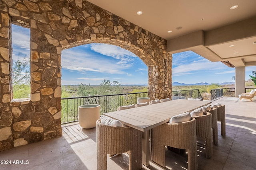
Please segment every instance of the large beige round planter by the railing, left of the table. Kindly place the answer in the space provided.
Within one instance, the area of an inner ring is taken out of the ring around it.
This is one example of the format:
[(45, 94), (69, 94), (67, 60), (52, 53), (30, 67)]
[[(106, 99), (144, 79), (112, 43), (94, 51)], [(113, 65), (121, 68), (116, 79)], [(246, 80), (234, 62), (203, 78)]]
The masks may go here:
[(96, 121), (100, 119), (100, 105), (87, 104), (78, 107), (78, 122), (84, 129), (96, 127)]

